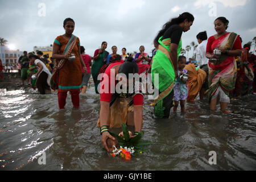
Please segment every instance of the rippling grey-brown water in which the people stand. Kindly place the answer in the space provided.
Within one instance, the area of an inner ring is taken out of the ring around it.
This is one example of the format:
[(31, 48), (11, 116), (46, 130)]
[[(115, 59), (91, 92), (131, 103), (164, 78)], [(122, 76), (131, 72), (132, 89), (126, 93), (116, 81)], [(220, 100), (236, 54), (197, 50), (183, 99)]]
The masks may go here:
[[(34, 90), (0, 90), (0, 170), (255, 170), (255, 96), (232, 101), (231, 114), (210, 112), (207, 100), (187, 104), (187, 113), (156, 119), (151, 101), (143, 106), (148, 151), (130, 162), (110, 156), (96, 127), (100, 97), (88, 90), (73, 109), (65, 110), (57, 94)], [(118, 133), (119, 129), (113, 130)], [(46, 165), (38, 158), (46, 152)], [(209, 152), (217, 165), (210, 166)]]

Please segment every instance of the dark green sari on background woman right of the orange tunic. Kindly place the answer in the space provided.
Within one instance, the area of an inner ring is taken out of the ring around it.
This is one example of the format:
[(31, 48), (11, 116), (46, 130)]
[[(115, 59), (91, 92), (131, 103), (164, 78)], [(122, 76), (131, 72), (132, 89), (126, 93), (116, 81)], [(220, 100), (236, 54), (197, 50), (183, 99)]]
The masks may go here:
[[(98, 51), (99, 51), (99, 49), (97, 49), (94, 52), (94, 56), (98, 55)], [(95, 92), (97, 94), (98, 94), (98, 84), (100, 84), (100, 80), (98, 80), (98, 75), (100, 73), (102, 66), (104, 66), (106, 64), (106, 58), (108, 57), (108, 55), (109, 55), (109, 52), (104, 51), (103, 53), (101, 53), (101, 55), (98, 57), (97, 60), (93, 60), (91, 73), (92, 73), (92, 77), (93, 77)]]

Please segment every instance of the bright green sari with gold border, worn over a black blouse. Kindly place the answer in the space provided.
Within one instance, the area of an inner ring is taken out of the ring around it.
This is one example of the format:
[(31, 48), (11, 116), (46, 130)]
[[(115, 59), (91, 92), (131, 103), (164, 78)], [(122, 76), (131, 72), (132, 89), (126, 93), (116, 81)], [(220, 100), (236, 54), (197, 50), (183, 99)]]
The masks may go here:
[[(172, 107), (173, 89), (175, 82), (174, 64), (170, 57), (171, 39), (159, 38), (159, 49), (153, 58), (151, 76), (159, 96), (155, 98), (155, 116), (158, 118), (169, 117)], [(177, 56), (180, 55), (182, 41), (177, 48)], [(156, 75), (155, 75), (156, 74)], [(158, 77), (155, 77), (158, 76)], [(172, 96), (171, 96), (172, 95)], [(167, 98), (164, 100), (164, 98)], [(168, 102), (168, 103), (167, 103)]]

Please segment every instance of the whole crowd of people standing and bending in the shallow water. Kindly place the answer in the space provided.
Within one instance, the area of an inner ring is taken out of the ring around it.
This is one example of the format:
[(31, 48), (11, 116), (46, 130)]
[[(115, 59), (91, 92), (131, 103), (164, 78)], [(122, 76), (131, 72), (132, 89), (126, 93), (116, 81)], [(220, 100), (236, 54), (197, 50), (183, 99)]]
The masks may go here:
[[(80, 92), (86, 92), (92, 76), (95, 92), (100, 94), (97, 125), (106, 150), (109, 150), (106, 140), (115, 139), (109, 134), (109, 127), (121, 127), (121, 123), (133, 125), (135, 133), (130, 135), (133, 138), (141, 132), (143, 123), (144, 93), (141, 86), (133, 93), (110, 92), (113, 84), (115, 86), (122, 81), (118, 73), (127, 77), (129, 74), (142, 76), (151, 73), (152, 84), (159, 91), (154, 101), (157, 118), (169, 118), (171, 108), (177, 111), (179, 104), (181, 111), (185, 112), (185, 102), (194, 102), (198, 94), (200, 99), (208, 96), (210, 110), (216, 110), (217, 102), (220, 102), (221, 111), (230, 113), (227, 106), (231, 97), (239, 98), (256, 92), (255, 55), (249, 52), (249, 44), (242, 48), (240, 35), (228, 32), (229, 21), (219, 17), (214, 21), (215, 35), (208, 38), (207, 32), (203, 31), (195, 36), (199, 43), (196, 59), (187, 61), (180, 55), (181, 36), (190, 30), (194, 20), (192, 14), (183, 13), (164, 24), (154, 40), (152, 56), (145, 52), (144, 46), (139, 47), (135, 57), (128, 55), (126, 48), (122, 48), (122, 55), (118, 55), (117, 46), (112, 46), (112, 53), (109, 53), (106, 51), (108, 43), (102, 42), (101, 48), (90, 57), (85, 54), (80, 39), (73, 35), (75, 21), (67, 18), (63, 23), (65, 34), (55, 39), (51, 59), (40, 51), (37, 55), (34, 52), (27, 55), (25, 51), (19, 61), (20, 76), (23, 84), (27, 80), (41, 94), (57, 90), (59, 109), (65, 108), (68, 92), (73, 107), (79, 108)], [(111, 70), (115, 75), (111, 75)], [(101, 77), (101, 73), (107, 77)], [(114, 83), (110, 81), (111, 76), (115, 78)], [(104, 89), (106, 85), (109, 86), (108, 92)], [(129, 84), (126, 86), (128, 88)]]

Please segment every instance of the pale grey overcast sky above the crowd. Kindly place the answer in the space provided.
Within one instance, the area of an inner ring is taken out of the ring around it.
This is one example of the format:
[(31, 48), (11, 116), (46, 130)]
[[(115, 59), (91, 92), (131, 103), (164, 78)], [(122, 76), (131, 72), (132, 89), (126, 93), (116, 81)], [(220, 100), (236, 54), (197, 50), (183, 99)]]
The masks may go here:
[[(40, 3), (46, 6), (45, 16)], [(218, 16), (229, 20), (228, 31), (240, 34), (245, 44), (256, 36), (255, 7), (255, 0), (0, 0), (0, 37), (16, 49), (32, 51), (34, 46), (53, 44), (64, 34), (64, 19), (70, 17), (75, 20), (73, 34), (91, 56), (103, 41), (110, 53), (112, 46), (121, 54), (122, 47), (133, 52), (143, 45), (151, 55), (163, 24), (187, 11), (195, 21), (182, 35), (183, 48), (197, 43), (201, 31), (206, 30), (208, 37), (216, 34), (213, 22)]]

